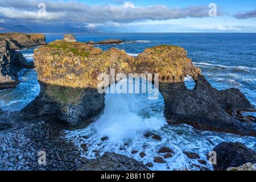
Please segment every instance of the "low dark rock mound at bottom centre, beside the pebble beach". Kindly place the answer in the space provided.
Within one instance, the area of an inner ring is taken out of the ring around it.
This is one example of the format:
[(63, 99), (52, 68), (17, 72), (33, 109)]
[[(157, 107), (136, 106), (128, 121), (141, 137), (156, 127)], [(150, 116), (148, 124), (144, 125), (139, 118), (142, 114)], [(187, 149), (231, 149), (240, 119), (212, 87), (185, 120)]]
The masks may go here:
[(81, 171), (148, 171), (148, 168), (137, 160), (106, 152), (98, 159), (89, 160)]

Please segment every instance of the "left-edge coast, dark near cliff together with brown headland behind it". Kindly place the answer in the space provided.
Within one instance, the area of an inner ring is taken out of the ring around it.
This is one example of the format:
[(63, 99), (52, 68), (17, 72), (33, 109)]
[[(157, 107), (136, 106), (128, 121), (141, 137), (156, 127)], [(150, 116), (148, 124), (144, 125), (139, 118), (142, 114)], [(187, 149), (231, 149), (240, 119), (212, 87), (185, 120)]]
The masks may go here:
[(42, 44), (46, 44), (44, 35), (0, 34), (0, 90), (15, 88), (19, 84), (18, 72), (21, 69), (34, 68), (34, 63), (28, 62), (22, 53), (15, 49)]

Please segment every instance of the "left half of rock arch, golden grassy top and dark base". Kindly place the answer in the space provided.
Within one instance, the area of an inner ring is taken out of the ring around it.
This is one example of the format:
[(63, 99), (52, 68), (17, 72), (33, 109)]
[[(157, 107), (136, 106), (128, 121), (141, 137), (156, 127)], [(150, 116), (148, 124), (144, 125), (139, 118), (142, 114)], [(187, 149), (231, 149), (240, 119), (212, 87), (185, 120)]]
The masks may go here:
[[(52, 115), (71, 126), (96, 117), (104, 109), (98, 75), (133, 72), (133, 57), (112, 48), (102, 51), (84, 43), (55, 41), (35, 50), (41, 93), (34, 104), (40, 115)], [(35, 104), (37, 103), (37, 104)], [(40, 107), (38, 107), (40, 105)]]

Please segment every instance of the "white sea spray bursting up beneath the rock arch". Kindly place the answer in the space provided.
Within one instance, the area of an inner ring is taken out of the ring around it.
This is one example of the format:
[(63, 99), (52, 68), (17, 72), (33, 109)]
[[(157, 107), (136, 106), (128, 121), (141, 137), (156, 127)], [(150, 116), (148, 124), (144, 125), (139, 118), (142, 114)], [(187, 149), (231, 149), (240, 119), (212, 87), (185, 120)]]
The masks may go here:
[[(115, 85), (110, 85), (110, 90)], [(152, 85), (148, 82), (148, 86)], [(147, 94), (106, 94), (104, 114), (93, 124), (94, 129), (113, 142), (142, 137), (148, 130), (159, 130), (166, 124), (163, 113), (154, 113), (150, 107), (152, 102), (146, 97)]]

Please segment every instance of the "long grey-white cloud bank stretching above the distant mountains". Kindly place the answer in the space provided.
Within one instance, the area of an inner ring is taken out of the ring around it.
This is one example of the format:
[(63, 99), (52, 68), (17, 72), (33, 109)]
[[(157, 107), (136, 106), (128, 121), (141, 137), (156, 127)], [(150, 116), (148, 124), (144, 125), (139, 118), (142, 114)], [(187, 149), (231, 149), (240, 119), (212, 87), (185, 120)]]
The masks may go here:
[[(46, 16), (40, 18), (38, 5), (46, 4)], [(163, 5), (135, 6), (131, 2), (122, 5), (93, 5), (81, 2), (42, 0), (1, 0), (0, 17), (19, 23), (106, 23), (134, 22), (138, 20), (167, 20), (208, 16), (207, 6), (189, 6), (170, 9)]]

